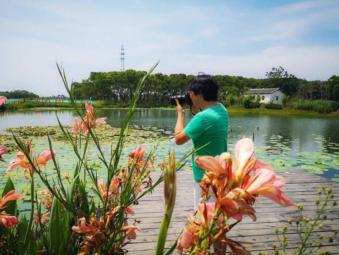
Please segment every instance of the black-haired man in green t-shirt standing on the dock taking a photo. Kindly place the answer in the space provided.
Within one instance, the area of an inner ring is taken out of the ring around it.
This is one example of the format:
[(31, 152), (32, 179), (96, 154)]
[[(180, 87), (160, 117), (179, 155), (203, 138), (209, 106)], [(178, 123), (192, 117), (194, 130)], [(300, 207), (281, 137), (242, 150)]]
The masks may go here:
[[(177, 145), (182, 145), (192, 139), (193, 149), (195, 150), (210, 143), (192, 155), (195, 181), (194, 210), (197, 210), (197, 204), (201, 202), (200, 181), (205, 173), (205, 170), (195, 164), (194, 159), (198, 155), (215, 157), (227, 151), (228, 136), (228, 113), (222, 104), (217, 103), (217, 82), (212, 75), (199, 74), (188, 84), (188, 92), (193, 104), (192, 112), (196, 115), (184, 128), (185, 105), (179, 105), (178, 100), (176, 100), (178, 119), (174, 131)], [(213, 201), (209, 200), (208, 202)], [(214, 244), (215, 252), (220, 250), (221, 247), (221, 242), (216, 242)], [(225, 254), (224, 251), (225, 249), (218, 254)]]

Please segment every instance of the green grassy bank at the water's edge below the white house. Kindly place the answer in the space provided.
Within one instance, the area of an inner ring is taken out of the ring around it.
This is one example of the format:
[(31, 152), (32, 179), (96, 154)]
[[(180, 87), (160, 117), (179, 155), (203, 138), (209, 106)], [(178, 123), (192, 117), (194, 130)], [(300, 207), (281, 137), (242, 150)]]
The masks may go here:
[(273, 115), (302, 115), (302, 116), (316, 116), (316, 117), (337, 117), (339, 118), (339, 113), (318, 113), (314, 111), (304, 111), (304, 110), (294, 110), (294, 109), (265, 109), (265, 108), (255, 108), (255, 109), (245, 109), (245, 108), (227, 108), (229, 113), (255, 113), (255, 114), (273, 114)]

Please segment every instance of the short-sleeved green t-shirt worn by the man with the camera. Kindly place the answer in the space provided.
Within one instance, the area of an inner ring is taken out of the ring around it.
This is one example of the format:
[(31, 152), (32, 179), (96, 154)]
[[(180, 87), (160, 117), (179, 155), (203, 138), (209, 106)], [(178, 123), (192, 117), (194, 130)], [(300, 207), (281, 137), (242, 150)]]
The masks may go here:
[(198, 167), (196, 156), (217, 156), (227, 151), (228, 113), (222, 104), (210, 106), (197, 113), (184, 132), (192, 139), (193, 149), (211, 142), (192, 155), (194, 181), (201, 181), (205, 170)]

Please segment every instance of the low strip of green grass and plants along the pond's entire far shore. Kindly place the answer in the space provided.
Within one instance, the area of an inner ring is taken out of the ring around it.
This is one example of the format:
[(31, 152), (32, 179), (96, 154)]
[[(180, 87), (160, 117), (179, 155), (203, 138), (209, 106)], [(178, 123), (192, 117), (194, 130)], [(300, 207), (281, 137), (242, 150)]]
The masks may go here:
[[(95, 107), (101, 109), (128, 109), (128, 102), (102, 102), (98, 101)], [(299, 109), (267, 109), (264, 106), (261, 108), (244, 108), (242, 105), (228, 106), (223, 104), (229, 113), (249, 113), (249, 114), (272, 114), (272, 115), (301, 115), (301, 116), (316, 116), (316, 117), (335, 117), (339, 118), (339, 113), (333, 111), (330, 113), (318, 113), (310, 110)], [(81, 104), (77, 104), (78, 107), (85, 107)], [(3, 109), (51, 109), (51, 108), (73, 108), (71, 104), (66, 103), (47, 103), (47, 102), (26, 102), (12, 105), (4, 105)], [(145, 103), (138, 102), (137, 109), (156, 109), (156, 110), (175, 110), (175, 107), (169, 104), (160, 103)]]

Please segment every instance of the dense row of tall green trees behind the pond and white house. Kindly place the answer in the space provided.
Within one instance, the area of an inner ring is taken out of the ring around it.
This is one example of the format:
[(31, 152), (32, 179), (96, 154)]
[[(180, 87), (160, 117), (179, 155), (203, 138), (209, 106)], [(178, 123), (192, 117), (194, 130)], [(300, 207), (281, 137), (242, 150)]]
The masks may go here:
[[(74, 82), (74, 96), (77, 99), (103, 101), (128, 101), (145, 71), (91, 72), (88, 79)], [(144, 102), (167, 102), (172, 95), (185, 94), (187, 84), (194, 75), (162, 74), (150, 75), (140, 92)], [(251, 88), (280, 88), (286, 95), (297, 95), (300, 99), (339, 100), (339, 76), (333, 75), (326, 81), (300, 79), (288, 74), (282, 67), (266, 72), (266, 78), (255, 79), (242, 76), (215, 75), (219, 86), (219, 101), (227, 96), (239, 96)]]

